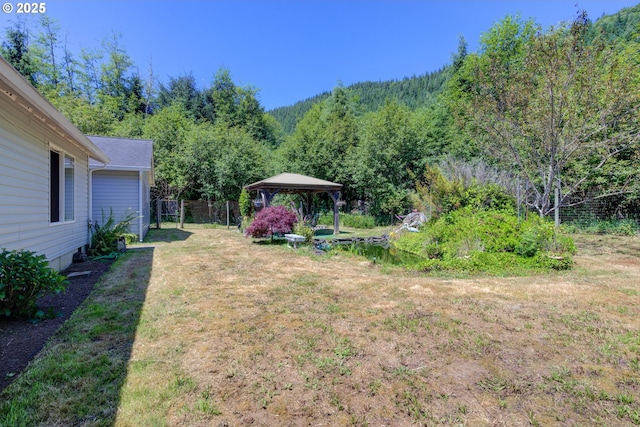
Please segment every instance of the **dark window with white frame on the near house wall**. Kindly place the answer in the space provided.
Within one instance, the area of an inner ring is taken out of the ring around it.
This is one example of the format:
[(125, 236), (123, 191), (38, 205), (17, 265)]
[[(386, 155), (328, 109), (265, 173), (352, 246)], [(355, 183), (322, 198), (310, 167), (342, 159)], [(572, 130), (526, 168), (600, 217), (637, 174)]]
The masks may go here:
[(52, 223), (74, 220), (75, 161), (59, 151), (49, 151), (49, 219)]

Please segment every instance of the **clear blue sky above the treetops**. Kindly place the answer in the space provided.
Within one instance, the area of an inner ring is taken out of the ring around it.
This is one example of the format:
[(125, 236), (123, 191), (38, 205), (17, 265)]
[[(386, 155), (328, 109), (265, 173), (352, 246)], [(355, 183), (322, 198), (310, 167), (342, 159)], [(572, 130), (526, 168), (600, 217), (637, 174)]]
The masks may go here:
[[(5, 0), (3, 0), (4, 2)], [(14, 6), (16, 1), (9, 0)], [(265, 109), (292, 105), (363, 81), (439, 69), (459, 36), (478, 48), (480, 35), (507, 14), (547, 28), (584, 9), (593, 20), (637, 4), (630, 0), (47, 0), (73, 52), (97, 48), (113, 32), (141, 76), (192, 73), (201, 87), (220, 68), (259, 90)], [(1, 27), (16, 20), (0, 14)]]

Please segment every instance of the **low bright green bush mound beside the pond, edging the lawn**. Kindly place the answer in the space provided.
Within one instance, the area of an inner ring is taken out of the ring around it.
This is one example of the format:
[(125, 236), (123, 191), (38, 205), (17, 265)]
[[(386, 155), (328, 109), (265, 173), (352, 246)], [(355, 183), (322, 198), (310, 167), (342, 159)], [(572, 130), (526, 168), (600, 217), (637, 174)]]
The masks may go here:
[(402, 234), (398, 249), (425, 258), (425, 270), (516, 271), (566, 269), (573, 240), (537, 216), (518, 222), (509, 212), (466, 207), (433, 219), (419, 233)]

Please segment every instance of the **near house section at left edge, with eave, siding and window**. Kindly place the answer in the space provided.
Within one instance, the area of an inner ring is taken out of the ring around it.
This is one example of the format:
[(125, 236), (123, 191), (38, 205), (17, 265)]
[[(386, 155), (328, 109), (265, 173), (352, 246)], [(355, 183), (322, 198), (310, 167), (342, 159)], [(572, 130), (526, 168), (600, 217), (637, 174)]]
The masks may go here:
[(0, 249), (63, 270), (89, 243), (89, 158), (109, 157), (0, 57)]

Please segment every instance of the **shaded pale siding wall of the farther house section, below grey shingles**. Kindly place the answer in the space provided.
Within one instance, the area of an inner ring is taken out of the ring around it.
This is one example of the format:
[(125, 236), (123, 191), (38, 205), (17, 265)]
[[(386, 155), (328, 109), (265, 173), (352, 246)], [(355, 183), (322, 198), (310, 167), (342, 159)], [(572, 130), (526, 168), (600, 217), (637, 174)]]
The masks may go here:
[[(113, 210), (116, 221), (130, 212), (139, 213), (138, 172), (117, 170), (96, 170), (93, 172), (92, 221), (102, 225)], [(104, 212), (104, 215), (103, 215)], [(130, 231), (140, 235), (139, 221), (131, 223)]]

